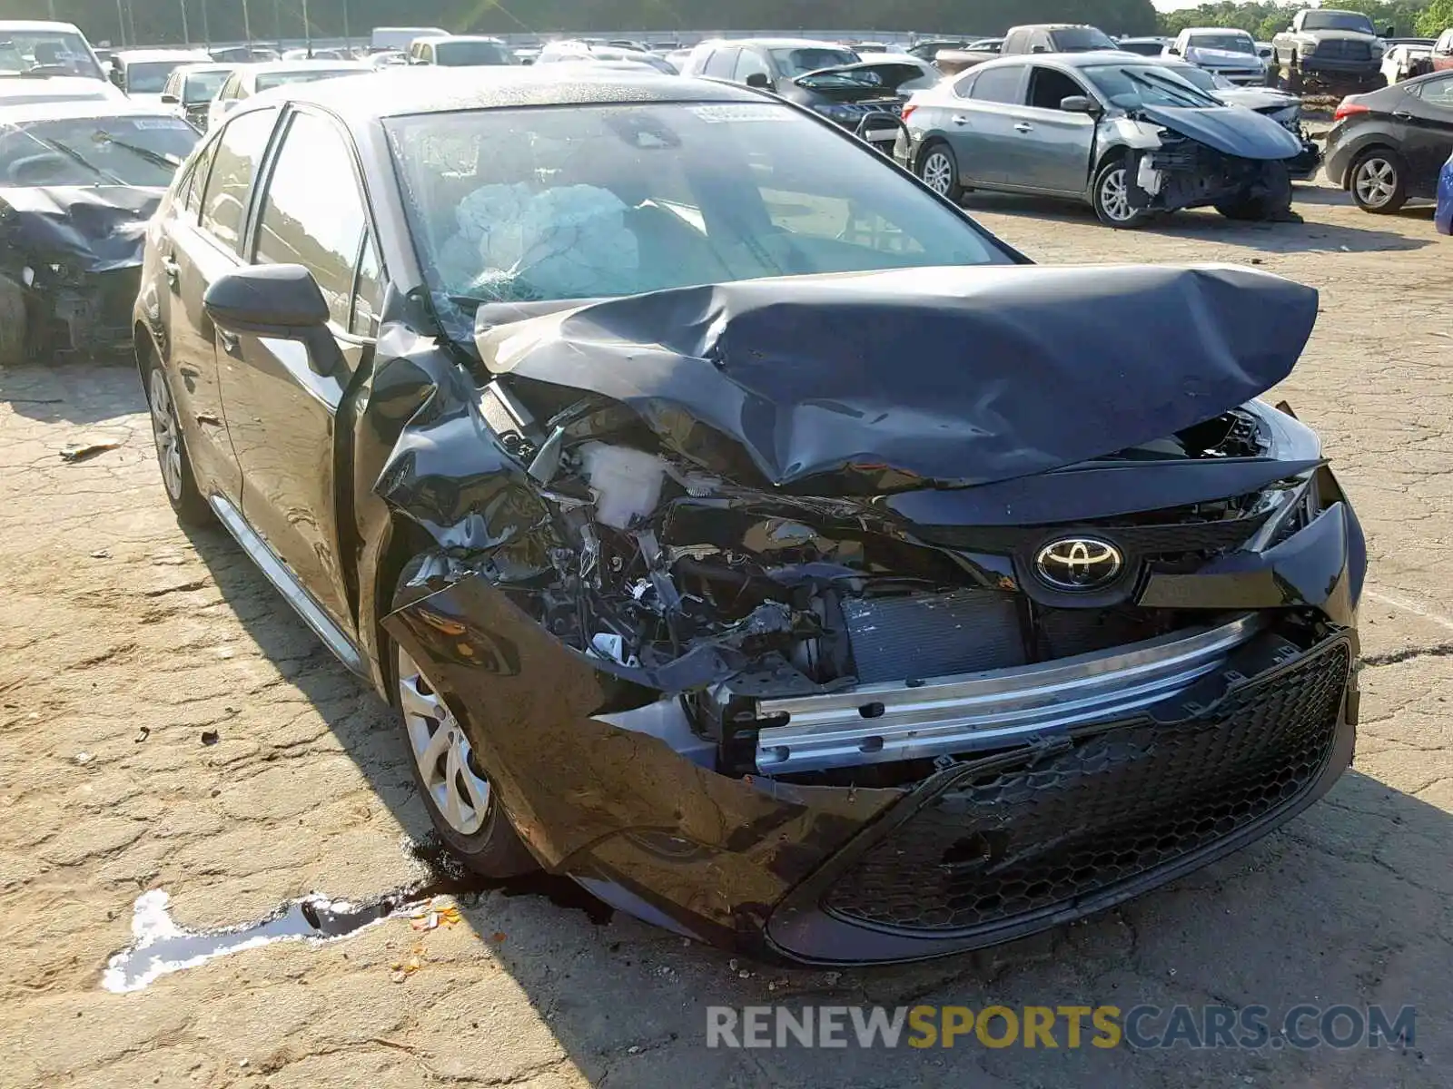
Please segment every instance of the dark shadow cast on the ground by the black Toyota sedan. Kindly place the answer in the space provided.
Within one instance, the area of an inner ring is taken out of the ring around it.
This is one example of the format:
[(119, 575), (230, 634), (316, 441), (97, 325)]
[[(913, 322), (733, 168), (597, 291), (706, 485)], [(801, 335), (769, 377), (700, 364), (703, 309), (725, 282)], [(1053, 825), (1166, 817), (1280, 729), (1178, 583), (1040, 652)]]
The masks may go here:
[[(224, 530), (189, 536), (262, 653), (315, 704), (407, 833), (427, 842), (429, 820), (391, 711), (328, 656)], [(1284, 829), (1088, 922), (947, 960), (881, 968), (753, 963), (622, 913), (591, 912), (588, 897), (556, 894), (574, 889), (567, 878), (445, 887), (458, 894), (465, 922), (493, 963), (530, 1000), (539, 1045), (561, 1048), (590, 1083), (822, 1085), (843, 1080), (843, 1050), (708, 1048), (708, 1008), (1264, 1005), (1273, 1025), (1299, 1002), (1359, 1009), (1382, 1003), (1396, 1013), (1446, 993), (1436, 977), (1453, 941), (1449, 842), (1453, 828), (1441, 809), (1348, 772), (1327, 800)], [(471, 1027), (487, 1041), (488, 1011), (471, 1009), (481, 1019)], [(1450, 1015), (1425, 1005), (1418, 1011), (1420, 1025)], [(1069, 1047), (1067, 1032), (1062, 1024), (1053, 1050), (995, 1050), (972, 1038), (956, 1050), (859, 1050), (850, 1043), (847, 1080), (944, 1088), (1328, 1079), (1411, 1085), (1438, 1069), (1434, 1061), (1453, 1061), (1453, 1043), (1433, 1040), (1350, 1051), (1270, 1043), (1261, 1050), (1135, 1051)], [(481, 1051), (478, 1061), (482, 1069), (491, 1060)], [(1155, 1074), (1151, 1067), (1158, 1067)]]

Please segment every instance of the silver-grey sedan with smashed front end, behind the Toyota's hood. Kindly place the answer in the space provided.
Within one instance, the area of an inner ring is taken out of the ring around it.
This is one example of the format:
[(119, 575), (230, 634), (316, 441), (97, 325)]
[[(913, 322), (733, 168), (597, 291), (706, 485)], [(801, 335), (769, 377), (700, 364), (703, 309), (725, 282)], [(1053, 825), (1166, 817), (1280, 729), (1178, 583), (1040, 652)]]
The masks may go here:
[(1117, 52), (1014, 57), (912, 96), (898, 161), (930, 189), (1067, 196), (1110, 227), (1213, 206), (1292, 215), (1300, 139), (1155, 61)]

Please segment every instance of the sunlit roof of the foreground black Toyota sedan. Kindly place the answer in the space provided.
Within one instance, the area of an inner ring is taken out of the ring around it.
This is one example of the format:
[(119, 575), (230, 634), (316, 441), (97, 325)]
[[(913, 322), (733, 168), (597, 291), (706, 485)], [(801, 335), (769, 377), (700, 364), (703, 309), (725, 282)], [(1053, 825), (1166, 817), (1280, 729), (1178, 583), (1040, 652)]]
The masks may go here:
[(256, 102), (321, 106), (353, 128), (381, 118), (520, 106), (596, 106), (647, 102), (761, 102), (766, 96), (716, 80), (622, 70), (604, 64), (436, 65), (375, 71), (337, 81), (294, 83)]

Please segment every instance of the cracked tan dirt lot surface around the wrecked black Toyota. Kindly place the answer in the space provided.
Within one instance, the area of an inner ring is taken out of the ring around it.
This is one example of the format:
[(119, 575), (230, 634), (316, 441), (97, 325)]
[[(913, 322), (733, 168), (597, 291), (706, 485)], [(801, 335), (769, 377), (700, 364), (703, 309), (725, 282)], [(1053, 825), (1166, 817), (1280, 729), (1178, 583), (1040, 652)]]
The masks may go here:
[[(915, 967), (737, 964), (536, 883), (459, 896), (459, 925), (389, 919), (103, 990), (138, 894), (166, 890), (189, 928), (312, 890), (376, 896), (420, 880), (407, 844), (427, 820), (389, 713), (221, 530), (177, 529), (135, 373), (0, 372), (0, 1085), (1453, 1083), (1453, 242), (1427, 211), (1299, 199), (1302, 225), (1186, 213), (1138, 234), (1059, 205), (971, 208), (1043, 261), (1251, 263), (1322, 290), (1279, 392), (1321, 430), (1369, 531), (1356, 770), (1282, 832), (1120, 910)], [(62, 460), (93, 441), (116, 446)], [(782, 1000), (1411, 1003), (1418, 1035), (1348, 1051), (705, 1047), (706, 1005)]]

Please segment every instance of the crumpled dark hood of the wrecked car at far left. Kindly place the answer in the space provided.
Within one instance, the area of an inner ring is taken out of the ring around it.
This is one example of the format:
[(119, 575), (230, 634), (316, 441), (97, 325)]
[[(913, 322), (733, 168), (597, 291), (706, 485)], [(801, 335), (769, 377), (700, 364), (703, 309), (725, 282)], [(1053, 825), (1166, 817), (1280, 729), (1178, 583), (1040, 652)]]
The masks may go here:
[(147, 221), (164, 192), (132, 186), (0, 189), (0, 261), (44, 256), (83, 273), (138, 267)]

